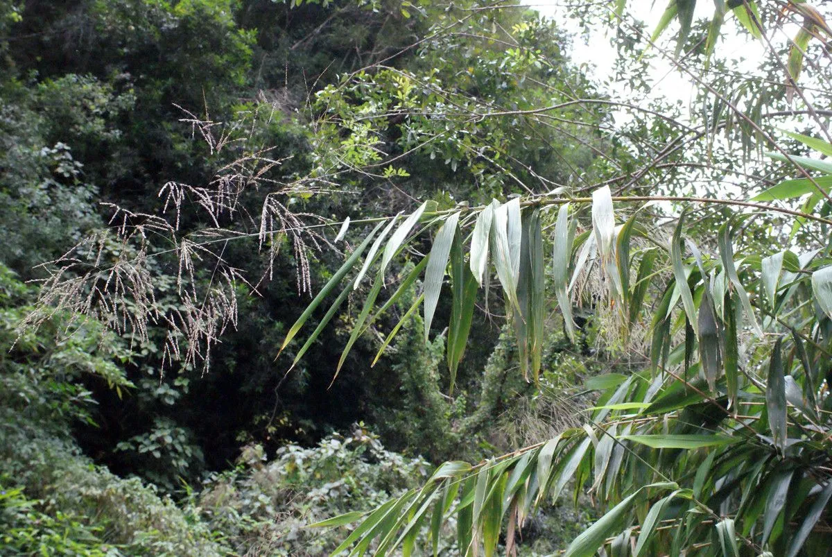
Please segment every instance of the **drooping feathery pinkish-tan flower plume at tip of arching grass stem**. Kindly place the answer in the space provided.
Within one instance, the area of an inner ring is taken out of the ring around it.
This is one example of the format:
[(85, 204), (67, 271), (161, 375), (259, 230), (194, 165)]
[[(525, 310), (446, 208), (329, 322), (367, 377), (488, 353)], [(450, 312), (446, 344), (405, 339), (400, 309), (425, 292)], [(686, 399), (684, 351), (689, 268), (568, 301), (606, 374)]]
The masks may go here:
[[(274, 110), (266, 117), (271, 118)], [(237, 326), (241, 289), (256, 292), (244, 271), (225, 261), (229, 241), (258, 239), (268, 257), (262, 282), (274, 276), (280, 246), (288, 238), (298, 290), (310, 291), (310, 251), (320, 251), (329, 242), (315, 231), (323, 219), (292, 211), (289, 205), (295, 196), (323, 191), (315, 184), (326, 182), (275, 178), (282, 161), (271, 158), (270, 149), (255, 145), (254, 123), (225, 125), (211, 121), (207, 113), (200, 119), (184, 112), (181, 122), (191, 124), (194, 136), (206, 142), (211, 155), (234, 144), (240, 156), (222, 163), (205, 186), (167, 182), (158, 194), (158, 213), (102, 204), (111, 211), (109, 227), (42, 265), (47, 277), (37, 308), (20, 331), (42, 326), (57, 312), (73, 316), (63, 331), (67, 335), (78, 321), (95, 319), (131, 341), (146, 342), (151, 326), (160, 326), (166, 331), (163, 364), (178, 362), (207, 371), (212, 347), (229, 327)], [(259, 115), (247, 117), (256, 121)], [(246, 209), (251, 198), (245, 196), (259, 191), (265, 191), (262, 209), (252, 216)], [(183, 211), (199, 211), (212, 226), (182, 230)]]

